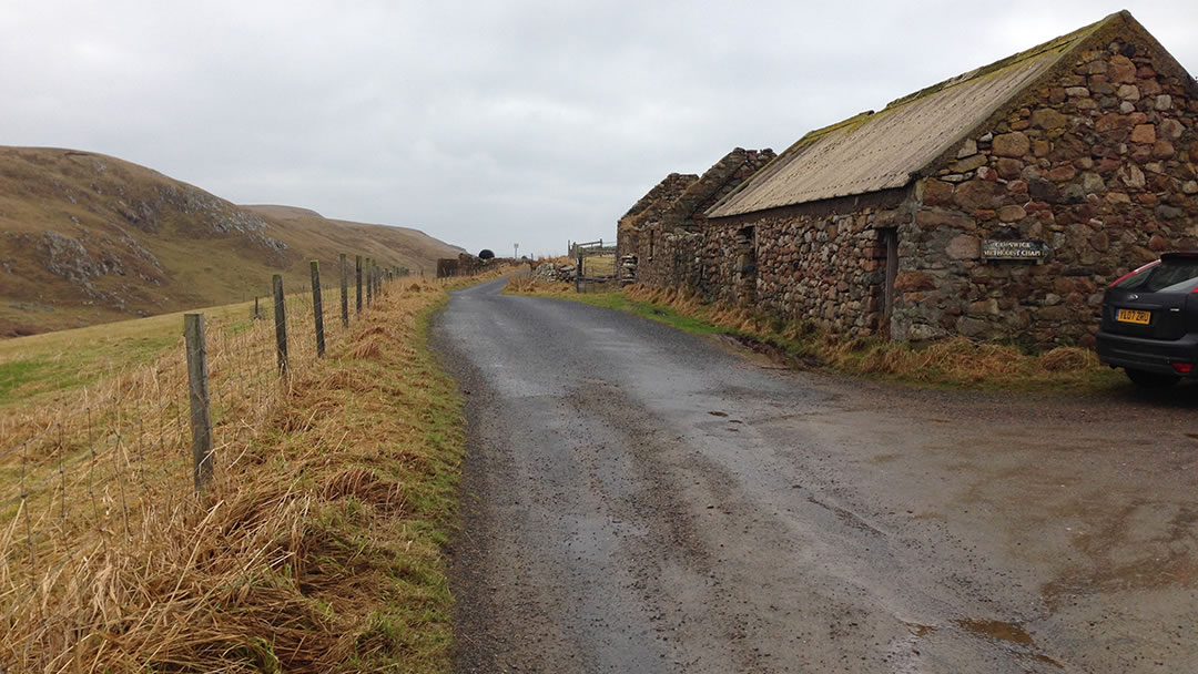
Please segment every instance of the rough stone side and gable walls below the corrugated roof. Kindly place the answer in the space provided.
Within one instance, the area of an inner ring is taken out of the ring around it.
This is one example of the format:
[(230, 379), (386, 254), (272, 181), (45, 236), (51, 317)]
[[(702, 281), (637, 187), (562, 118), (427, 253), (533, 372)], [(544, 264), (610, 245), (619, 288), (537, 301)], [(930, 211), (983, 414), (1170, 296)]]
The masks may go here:
[[(906, 188), (704, 224), (678, 217), (706, 211), (685, 201), (692, 183), (622, 238), (637, 281), (849, 335), (1093, 345), (1114, 279), (1198, 249), (1198, 84), (1138, 31), (1084, 47)], [(1014, 239), (1049, 253), (981, 259), (982, 242)]]

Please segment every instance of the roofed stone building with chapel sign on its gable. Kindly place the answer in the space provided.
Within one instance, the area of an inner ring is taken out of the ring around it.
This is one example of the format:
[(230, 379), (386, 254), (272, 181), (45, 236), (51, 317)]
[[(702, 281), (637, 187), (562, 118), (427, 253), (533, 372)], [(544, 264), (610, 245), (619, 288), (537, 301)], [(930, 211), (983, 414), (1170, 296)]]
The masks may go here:
[(640, 280), (852, 335), (1089, 345), (1111, 281), (1198, 248), (1196, 123), (1198, 84), (1119, 12), (809, 133)]

